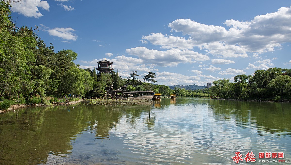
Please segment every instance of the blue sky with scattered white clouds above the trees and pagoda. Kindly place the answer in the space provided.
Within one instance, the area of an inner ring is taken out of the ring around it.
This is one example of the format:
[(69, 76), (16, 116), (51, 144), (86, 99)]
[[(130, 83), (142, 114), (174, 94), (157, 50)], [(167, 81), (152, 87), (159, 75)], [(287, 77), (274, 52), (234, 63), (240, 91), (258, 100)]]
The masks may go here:
[[(159, 85), (207, 85), (255, 70), (291, 67), (290, 1), (22, 0), (17, 26), (55, 51), (78, 53), (80, 68), (104, 58), (122, 78), (157, 74)], [(143, 80), (142, 80), (143, 81)]]

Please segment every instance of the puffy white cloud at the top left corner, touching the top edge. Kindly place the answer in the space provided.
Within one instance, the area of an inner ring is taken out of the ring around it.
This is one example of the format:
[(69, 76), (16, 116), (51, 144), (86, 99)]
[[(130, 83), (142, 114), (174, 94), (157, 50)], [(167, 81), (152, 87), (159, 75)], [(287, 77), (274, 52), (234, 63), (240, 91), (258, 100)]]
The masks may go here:
[(39, 18), (43, 15), (38, 11), (38, 8), (49, 10), (49, 3), (47, 3), (47, 1), (41, 0), (25, 0), (20, 2), (15, 1), (12, 11), (18, 12), (19, 14), (22, 14), (26, 17)]

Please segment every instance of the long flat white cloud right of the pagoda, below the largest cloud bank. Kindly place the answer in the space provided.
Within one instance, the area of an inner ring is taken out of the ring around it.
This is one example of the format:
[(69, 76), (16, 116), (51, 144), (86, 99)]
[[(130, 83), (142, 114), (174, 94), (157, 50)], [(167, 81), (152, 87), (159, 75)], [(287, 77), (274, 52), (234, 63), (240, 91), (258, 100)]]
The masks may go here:
[(148, 63), (156, 64), (158, 66), (177, 66), (179, 63), (196, 62), (210, 60), (207, 55), (203, 55), (190, 50), (170, 49), (166, 51), (158, 51), (154, 49), (148, 49), (145, 47), (136, 47), (126, 49), (126, 52), (130, 55), (136, 55), (142, 60), (146, 60)]

